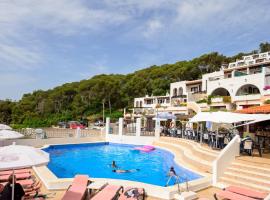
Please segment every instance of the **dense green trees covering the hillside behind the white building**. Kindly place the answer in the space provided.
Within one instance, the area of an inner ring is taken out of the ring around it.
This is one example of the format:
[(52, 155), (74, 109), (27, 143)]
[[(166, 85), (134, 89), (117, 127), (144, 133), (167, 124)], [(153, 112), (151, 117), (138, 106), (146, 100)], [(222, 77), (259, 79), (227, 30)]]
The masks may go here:
[[(165, 95), (171, 82), (194, 80), (243, 55), (265, 51), (270, 51), (269, 43), (261, 43), (257, 51), (233, 57), (213, 52), (189, 61), (154, 65), (127, 75), (101, 74), (47, 91), (37, 90), (24, 94), (18, 102), (0, 101), (0, 123), (13, 124), (14, 127), (44, 127), (87, 117), (95, 120), (102, 116), (103, 104), (106, 116), (118, 118), (123, 108), (132, 107), (134, 97)], [(200, 65), (208, 67), (199, 68)]]

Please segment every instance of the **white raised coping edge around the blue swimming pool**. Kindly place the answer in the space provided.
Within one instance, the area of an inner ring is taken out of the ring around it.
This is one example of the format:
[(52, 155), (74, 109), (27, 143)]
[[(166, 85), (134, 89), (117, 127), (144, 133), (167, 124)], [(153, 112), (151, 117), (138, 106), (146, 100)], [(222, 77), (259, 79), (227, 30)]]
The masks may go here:
[[(79, 144), (91, 144), (91, 143), (110, 143), (106, 141), (95, 141), (95, 142), (85, 142), (85, 143), (67, 143), (67, 144), (47, 144), (43, 145), (40, 149), (49, 148), (50, 146), (54, 145), (79, 145)], [(112, 142), (113, 143), (113, 142)], [(115, 143), (115, 144), (121, 144), (121, 143)], [(134, 144), (136, 145), (136, 144)], [(155, 145), (153, 145), (155, 146)], [(159, 149), (168, 151), (173, 155), (174, 162), (185, 168), (186, 170), (189, 170), (191, 172), (194, 172), (196, 174), (201, 175), (201, 178), (192, 180), (188, 182), (188, 188), (192, 191), (198, 191), (204, 188), (207, 188), (212, 185), (212, 178), (211, 174), (203, 173), (196, 171), (194, 169), (189, 169), (185, 164), (179, 163), (177, 161), (177, 155), (175, 155), (174, 152), (172, 152), (170, 149), (165, 147), (159, 147), (156, 146)], [(48, 190), (66, 190), (69, 185), (72, 183), (73, 178), (58, 178), (46, 165), (39, 166), (39, 167), (33, 167), (35, 173), (38, 175), (38, 177), (42, 180), (42, 182), (45, 184), (46, 188)], [(153, 184), (143, 183), (139, 181), (130, 181), (130, 180), (124, 180), (124, 179), (110, 179), (110, 178), (91, 178), (91, 181), (96, 182), (102, 182), (102, 183), (110, 183), (115, 185), (124, 185), (124, 186), (133, 186), (133, 187), (143, 187), (146, 191), (146, 193), (149, 196), (157, 197), (157, 198), (163, 198), (163, 199), (172, 199), (174, 198), (174, 195), (178, 193), (178, 186), (168, 186), (168, 187), (162, 187), (157, 186)], [(183, 188), (186, 188), (186, 183), (179, 184), (180, 188), (183, 191)]]

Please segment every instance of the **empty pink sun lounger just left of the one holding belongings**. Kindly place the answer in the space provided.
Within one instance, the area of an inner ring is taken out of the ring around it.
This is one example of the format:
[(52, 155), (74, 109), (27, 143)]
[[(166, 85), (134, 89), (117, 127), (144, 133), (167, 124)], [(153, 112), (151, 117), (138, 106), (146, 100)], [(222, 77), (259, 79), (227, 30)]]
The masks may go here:
[(114, 200), (120, 196), (120, 191), (123, 191), (122, 186), (117, 185), (108, 185), (106, 184), (95, 196), (93, 196), (92, 200)]

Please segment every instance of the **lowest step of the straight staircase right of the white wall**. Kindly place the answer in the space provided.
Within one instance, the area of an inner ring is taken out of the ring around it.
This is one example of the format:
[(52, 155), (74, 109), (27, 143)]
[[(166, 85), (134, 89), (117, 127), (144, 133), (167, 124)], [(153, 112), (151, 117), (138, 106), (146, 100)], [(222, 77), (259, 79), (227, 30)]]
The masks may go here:
[(258, 190), (258, 191), (262, 191), (262, 192), (268, 192), (268, 193), (270, 192), (269, 187), (257, 185), (257, 184), (254, 184), (254, 183), (249, 183), (249, 182), (246, 182), (246, 181), (239, 181), (239, 180), (235, 180), (235, 179), (231, 179), (231, 178), (226, 178), (226, 177), (221, 177), (219, 184), (222, 184), (222, 185), (237, 185), (237, 186), (243, 186), (243, 187), (246, 187), (246, 188), (250, 188), (250, 189), (254, 189), (254, 190)]

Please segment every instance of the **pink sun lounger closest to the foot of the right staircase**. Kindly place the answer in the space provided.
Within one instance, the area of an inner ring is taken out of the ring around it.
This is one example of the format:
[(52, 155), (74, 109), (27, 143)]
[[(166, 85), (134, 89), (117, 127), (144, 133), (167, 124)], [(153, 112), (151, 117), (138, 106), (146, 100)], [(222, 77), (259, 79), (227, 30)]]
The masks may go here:
[(225, 188), (226, 191), (241, 194), (255, 199), (264, 199), (268, 195), (267, 193), (252, 190), (249, 188), (239, 187), (239, 186), (229, 186)]

